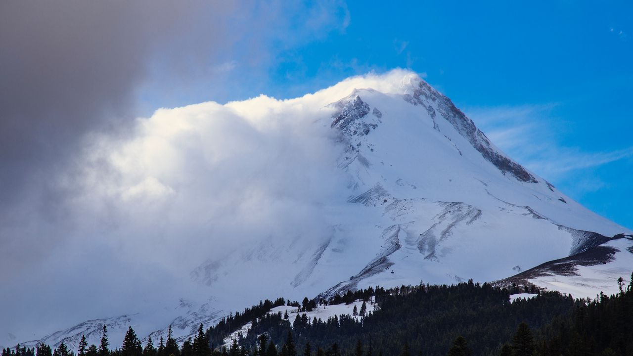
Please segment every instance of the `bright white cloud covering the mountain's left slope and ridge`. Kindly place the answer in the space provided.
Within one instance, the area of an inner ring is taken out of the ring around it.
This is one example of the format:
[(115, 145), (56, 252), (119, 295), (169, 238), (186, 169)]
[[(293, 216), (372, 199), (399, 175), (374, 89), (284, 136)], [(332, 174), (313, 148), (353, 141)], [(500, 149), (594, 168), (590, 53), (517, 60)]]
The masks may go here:
[(13, 306), (0, 310), (0, 342), (207, 298), (214, 291), (189, 273), (237, 246), (322, 243), (331, 234), (323, 209), (344, 204), (349, 184), (328, 105), (356, 87), (399, 90), (404, 72), (386, 75), (398, 80), (370, 74), (299, 99), (162, 108), (125, 135), (91, 132), (56, 179), (70, 192), (56, 205), (63, 219), (3, 226), (32, 241), (63, 238), (26, 250), (1, 241), (3, 263), (20, 268), (1, 269), (0, 285), (23, 293), (0, 296)]

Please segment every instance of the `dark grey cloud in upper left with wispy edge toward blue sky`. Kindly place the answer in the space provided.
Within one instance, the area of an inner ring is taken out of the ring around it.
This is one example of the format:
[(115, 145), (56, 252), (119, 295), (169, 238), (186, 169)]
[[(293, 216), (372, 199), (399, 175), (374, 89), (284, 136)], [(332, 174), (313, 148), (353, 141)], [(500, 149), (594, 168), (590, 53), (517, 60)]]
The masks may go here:
[[(339, 9), (335, 16), (330, 8)], [(0, 258), (0, 281), (73, 230), (66, 202), (77, 194), (72, 172), (82, 168), (92, 134), (126, 136), (143, 110), (229, 99), (225, 92), (237, 86), (265, 83), (275, 53), (345, 26), (340, 8), (327, 1), (3, 1), (0, 250), (9, 257)], [(250, 78), (235, 80), (237, 70)]]

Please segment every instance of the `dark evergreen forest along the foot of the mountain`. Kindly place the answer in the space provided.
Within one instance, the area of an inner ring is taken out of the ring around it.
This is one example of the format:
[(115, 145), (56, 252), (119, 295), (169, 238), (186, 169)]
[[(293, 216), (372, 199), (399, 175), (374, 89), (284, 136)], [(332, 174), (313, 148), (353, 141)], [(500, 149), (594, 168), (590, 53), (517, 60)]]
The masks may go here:
[[(144, 345), (130, 326), (121, 348), (110, 349), (103, 326), (99, 346), (85, 336), (77, 353), (65, 343), (25, 348), (0, 356), (629, 356), (633, 355), (633, 275), (618, 293), (574, 299), (556, 291), (530, 288), (537, 298), (510, 302), (527, 287), (491, 284), (401, 286), (348, 291), (332, 298), (291, 302), (265, 300), (224, 317), (215, 326), (201, 324), (179, 345), (171, 326), (164, 340)], [(317, 307), (362, 301), (351, 315), (325, 320), (309, 317)], [(281, 305), (297, 312), (270, 313)], [(249, 331), (230, 345), (224, 340), (247, 322)]]

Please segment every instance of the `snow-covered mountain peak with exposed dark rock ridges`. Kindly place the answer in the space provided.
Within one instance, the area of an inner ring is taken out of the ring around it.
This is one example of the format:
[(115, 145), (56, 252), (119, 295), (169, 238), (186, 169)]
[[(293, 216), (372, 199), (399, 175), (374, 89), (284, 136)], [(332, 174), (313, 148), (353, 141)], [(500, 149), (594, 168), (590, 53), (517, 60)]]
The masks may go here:
[[(205, 105), (175, 109), (170, 120), (189, 122)], [(415, 73), (354, 77), (302, 98), (260, 97), (224, 107), (263, 121), (296, 114), (315, 130), (329, 130), (324, 144), (338, 150), (333, 164), (344, 177), (334, 188), (336, 198), (315, 203), (319, 216), (305, 222), (310, 229), (285, 238), (261, 236), (199, 261), (183, 278), (208, 295), (174, 301), (163, 319), (145, 322), (149, 311), (122, 310), (125, 316), (87, 321), (39, 340), (64, 340), (75, 348), (86, 334), (98, 343), (95, 331), (106, 324), (118, 345), (127, 325), (157, 340), (172, 324), (182, 341), (200, 322), (211, 324), (263, 298), (300, 300), (420, 281), (532, 283), (595, 296), (615, 291), (616, 279), (633, 270), (632, 231), (506, 156)], [(329, 179), (326, 173), (310, 179)], [(315, 224), (323, 233), (306, 234)]]

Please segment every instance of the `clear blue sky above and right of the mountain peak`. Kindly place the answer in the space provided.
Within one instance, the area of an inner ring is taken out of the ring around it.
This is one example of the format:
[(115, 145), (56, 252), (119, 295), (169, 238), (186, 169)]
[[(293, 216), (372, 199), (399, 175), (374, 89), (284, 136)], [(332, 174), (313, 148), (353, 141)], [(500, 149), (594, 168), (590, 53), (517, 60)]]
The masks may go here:
[[(303, 41), (269, 41), (260, 84), (208, 99), (291, 98), (350, 75), (411, 68), (506, 153), (633, 227), (633, 3), (349, 1), (332, 16)], [(291, 22), (287, 36), (304, 25)], [(226, 78), (239, 82), (241, 64), (228, 61)]]

